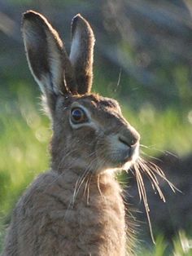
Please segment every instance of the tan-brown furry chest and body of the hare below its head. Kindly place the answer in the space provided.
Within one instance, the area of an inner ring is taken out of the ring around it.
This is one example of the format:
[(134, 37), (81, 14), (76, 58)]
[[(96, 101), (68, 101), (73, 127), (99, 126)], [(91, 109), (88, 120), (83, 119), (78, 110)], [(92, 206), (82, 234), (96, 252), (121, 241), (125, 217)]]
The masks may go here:
[[(83, 186), (72, 205), (75, 184), (69, 188), (66, 175), (42, 174), (18, 203), (14, 218), (18, 236), (25, 241), (18, 248), (19, 255), (124, 255), (124, 204), (119, 184), (103, 174), (100, 188), (93, 179), (89, 195)], [(46, 248), (42, 246), (45, 240)], [(72, 254), (74, 251), (77, 253)]]

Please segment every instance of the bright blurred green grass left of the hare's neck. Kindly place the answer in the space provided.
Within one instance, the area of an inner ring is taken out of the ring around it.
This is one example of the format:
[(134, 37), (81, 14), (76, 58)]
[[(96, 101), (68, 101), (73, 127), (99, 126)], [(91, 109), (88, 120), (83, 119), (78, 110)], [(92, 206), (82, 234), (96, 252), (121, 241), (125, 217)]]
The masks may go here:
[(2, 100), (0, 107), (0, 214), (5, 215), (34, 176), (47, 168), (50, 130), (27, 95), (20, 93), (15, 102)]

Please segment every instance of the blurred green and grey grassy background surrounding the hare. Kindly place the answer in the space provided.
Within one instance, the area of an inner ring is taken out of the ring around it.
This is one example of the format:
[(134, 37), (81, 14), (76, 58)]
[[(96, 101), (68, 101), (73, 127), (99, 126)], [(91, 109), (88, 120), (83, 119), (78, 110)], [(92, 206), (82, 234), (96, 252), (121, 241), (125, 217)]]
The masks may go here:
[[(15, 202), (34, 176), (49, 168), (50, 125), (41, 113), (20, 33), (21, 14), (28, 9), (46, 15), (68, 52), (72, 16), (84, 15), (96, 37), (94, 91), (119, 100), (148, 147), (142, 148), (144, 155), (173, 152), (185, 159), (192, 154), (190, 1), (0, 0), (0, 251)], [(185, 173), (178, 175), (185, 179)], [(191, 176), (186, 177), (192, 187)], [(154, 217), (157, 244), (146, 239), (138, 255), (192, 255), (192, 218), (183, 218), (184, 211), (192, 216), (192, 202), (186, 198), (187, 206), (180, 206), (182, 225), (169, 236)]]

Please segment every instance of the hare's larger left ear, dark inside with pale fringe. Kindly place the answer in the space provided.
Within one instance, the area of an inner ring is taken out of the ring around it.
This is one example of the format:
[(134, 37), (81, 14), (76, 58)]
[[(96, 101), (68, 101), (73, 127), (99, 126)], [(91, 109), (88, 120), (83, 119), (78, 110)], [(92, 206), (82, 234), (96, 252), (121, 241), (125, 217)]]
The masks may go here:
[(76, 91), (72, 65), (63, 42), (46, 18), (35, 11), (24, 13), (22, 31), (29, 68), (46, 96), (48, 107), (55, 108), (59, 94)]

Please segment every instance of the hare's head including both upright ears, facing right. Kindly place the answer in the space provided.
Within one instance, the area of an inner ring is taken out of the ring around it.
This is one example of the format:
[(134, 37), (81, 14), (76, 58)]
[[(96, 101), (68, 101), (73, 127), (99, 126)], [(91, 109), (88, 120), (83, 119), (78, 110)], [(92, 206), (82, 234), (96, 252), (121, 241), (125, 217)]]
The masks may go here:
[(52, 120), (52, 168), (95, 174), (128, 169), (138, 157), (139, 135), (116, 100), (90, 92), (94, 33), (89, 23), (79, 14), (73, 18), (69, 57), (41, 14), (24, 13), (22, 30), (28, 65)]

